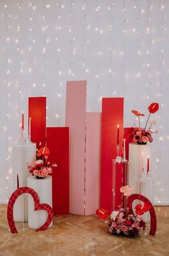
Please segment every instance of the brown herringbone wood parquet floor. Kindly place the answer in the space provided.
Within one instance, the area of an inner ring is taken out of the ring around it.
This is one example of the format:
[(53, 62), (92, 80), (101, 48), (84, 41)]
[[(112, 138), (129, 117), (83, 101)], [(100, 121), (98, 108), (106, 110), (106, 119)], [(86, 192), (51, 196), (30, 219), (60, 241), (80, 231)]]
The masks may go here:
[(156, 236), (137, 238), (112, 236), (97, 216), (55, 216), (53, 226), (35, 232), (17, 223), (18, 234), (11, 234), (6, 205), (0, 205), (0, 256), (163, 256), (169, 255), (169, 206), (155, 207)]

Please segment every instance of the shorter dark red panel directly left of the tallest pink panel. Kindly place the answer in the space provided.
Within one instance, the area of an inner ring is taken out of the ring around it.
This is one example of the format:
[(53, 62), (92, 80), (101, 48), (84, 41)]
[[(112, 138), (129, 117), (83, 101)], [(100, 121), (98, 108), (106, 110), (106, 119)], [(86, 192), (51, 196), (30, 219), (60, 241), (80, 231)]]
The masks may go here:
[(52, 173), (52, 209), (54, 214), (69, 213), (69, 129), (47, 127), (50, 163), (57, 163)]

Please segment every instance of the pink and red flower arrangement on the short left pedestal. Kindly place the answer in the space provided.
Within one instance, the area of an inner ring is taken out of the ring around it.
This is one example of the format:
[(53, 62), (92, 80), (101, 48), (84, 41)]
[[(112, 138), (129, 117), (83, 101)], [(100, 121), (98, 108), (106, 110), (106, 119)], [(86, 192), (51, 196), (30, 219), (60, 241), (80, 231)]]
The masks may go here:
[[(50, 155), (50, 150), (45, 146), (37, 150), (37, 161), (28, 164), (29, 174), (35, 176), (37, 179), (43, 179), (47, 175), (52, 174), (52, 168), (47, 158)], [(57, 164), (52, 164), (52, 167), (57, 167)]]

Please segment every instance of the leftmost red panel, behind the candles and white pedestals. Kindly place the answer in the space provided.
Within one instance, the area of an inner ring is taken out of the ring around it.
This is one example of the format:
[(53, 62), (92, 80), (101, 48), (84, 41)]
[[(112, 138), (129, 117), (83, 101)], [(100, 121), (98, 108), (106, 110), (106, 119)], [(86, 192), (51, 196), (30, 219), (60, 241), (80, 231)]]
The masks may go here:
[(46, 98), (31, 97), (29, 98), (29, 117), (31, 117), (31, 136), (32, 142), (40, 142), (45, 145), (46, 137)]

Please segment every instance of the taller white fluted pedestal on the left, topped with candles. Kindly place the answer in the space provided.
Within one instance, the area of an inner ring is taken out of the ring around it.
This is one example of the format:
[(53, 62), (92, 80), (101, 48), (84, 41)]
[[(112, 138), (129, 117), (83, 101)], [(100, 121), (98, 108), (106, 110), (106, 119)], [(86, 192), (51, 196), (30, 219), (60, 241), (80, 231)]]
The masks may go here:
[[(12, 166), (14, 190), (17, 189), (17, 174), (19, 187), (27, 186), (27, 163), (36, 161), (36, 144), (17, 144), (12, 147)], [(20, 195), (14, 204), (14, 221), (27, 222), (27, 195)]]

